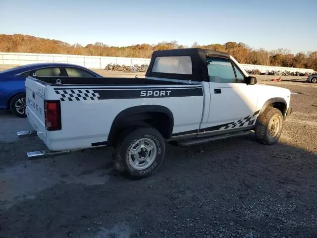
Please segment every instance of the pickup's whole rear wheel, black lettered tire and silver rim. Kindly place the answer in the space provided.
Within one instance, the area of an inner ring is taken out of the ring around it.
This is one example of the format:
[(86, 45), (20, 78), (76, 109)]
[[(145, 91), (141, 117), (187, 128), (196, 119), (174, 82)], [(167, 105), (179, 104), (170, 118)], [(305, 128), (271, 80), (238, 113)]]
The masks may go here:
[[(132, 178), (141, 179), (153, 175), (161, 166), (165, 155), (165, 140), (155, 128), (141, 127), (122, 132), (114, 149), (115, 167)], [(131, 151), (139, 152), (133, 155)]]

